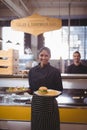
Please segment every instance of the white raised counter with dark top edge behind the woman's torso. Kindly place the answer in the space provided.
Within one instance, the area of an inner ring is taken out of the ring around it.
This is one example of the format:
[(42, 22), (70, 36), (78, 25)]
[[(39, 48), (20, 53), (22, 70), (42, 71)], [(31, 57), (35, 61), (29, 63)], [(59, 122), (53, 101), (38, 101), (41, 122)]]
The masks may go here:
[[(87, 89), (87, 74), (61, 74), (61, 76), (64, 88)], [(0, 87), (29, 87), (27, 77), (27, 74), (0, 75)]]

